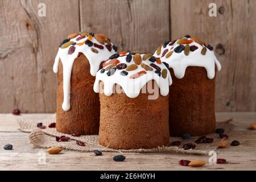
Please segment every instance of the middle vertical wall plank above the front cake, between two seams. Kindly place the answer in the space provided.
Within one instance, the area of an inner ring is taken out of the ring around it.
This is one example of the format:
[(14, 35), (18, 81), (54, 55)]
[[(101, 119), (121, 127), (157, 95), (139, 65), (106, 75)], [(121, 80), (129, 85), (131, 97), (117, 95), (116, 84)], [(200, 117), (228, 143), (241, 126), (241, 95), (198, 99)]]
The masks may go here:
[(169, 39), (169, 1), (80, 1), (81, 30), (106, 34), (119, 51), (151, 51)]

